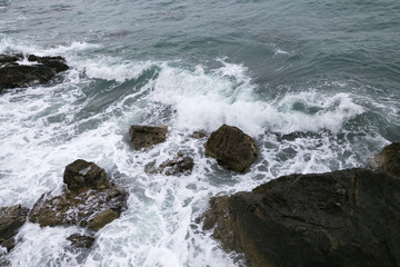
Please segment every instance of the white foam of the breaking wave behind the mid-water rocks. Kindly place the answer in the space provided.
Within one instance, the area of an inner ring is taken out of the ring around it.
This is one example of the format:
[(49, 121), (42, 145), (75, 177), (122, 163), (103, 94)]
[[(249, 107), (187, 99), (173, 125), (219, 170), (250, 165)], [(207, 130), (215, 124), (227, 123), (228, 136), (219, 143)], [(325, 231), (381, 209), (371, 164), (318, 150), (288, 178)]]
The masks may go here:
[(310, 90), (267, 102), (254, 93), (254, 88), (241, 66), (224, 63), (207, 73), (201, 66), (190, 71), (164, 63), (150, 99), (172, 106), (180, 129), (211, 131), (228, 123), (252, 136), (266, 130), (338, 131), (346, 121), (363, 112), (349, 93)]

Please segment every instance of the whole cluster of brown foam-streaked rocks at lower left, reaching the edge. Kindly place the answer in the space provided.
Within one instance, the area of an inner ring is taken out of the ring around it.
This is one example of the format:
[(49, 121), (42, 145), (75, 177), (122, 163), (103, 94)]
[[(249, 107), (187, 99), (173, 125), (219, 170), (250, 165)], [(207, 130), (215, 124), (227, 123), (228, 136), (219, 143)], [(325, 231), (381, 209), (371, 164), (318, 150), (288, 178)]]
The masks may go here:
[[(13, 237), (27, 217), (41, 227), (77, 225), (90, 234), (119, 218), (127, 208), (126, 189), (110, 182), (106, 171), (93, 162), (78, 159), (68, 165), (63, 181), (67, 187), (62, 195), (43, 194), (31, 210), (20, 205), (0, 208), (1, 246), (8, 251), (14, 247)], [(90, 247), (94, 241), (91, 236), (78, 234), (68, 239), (76, 247)]]

